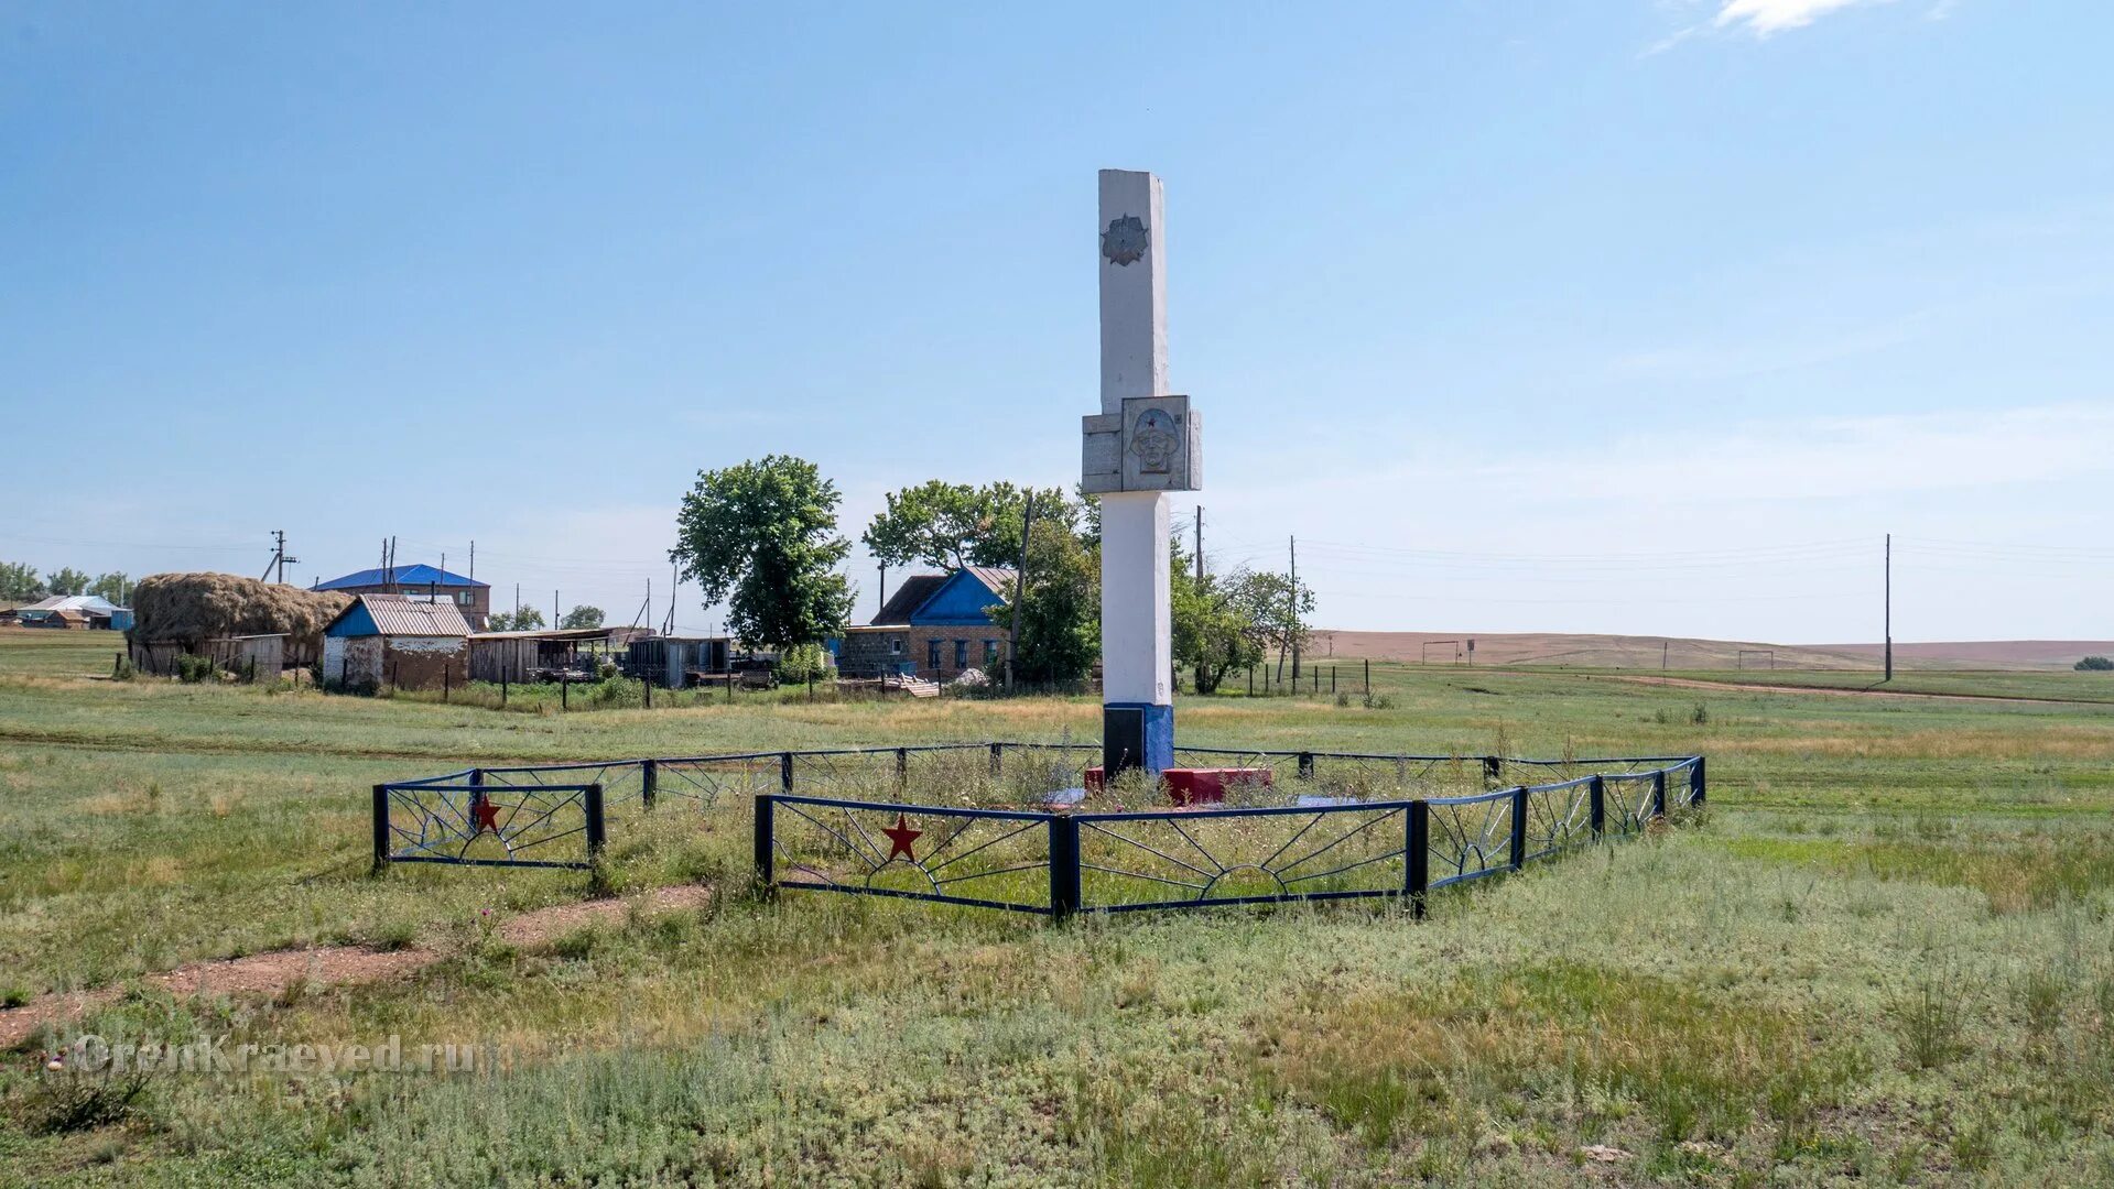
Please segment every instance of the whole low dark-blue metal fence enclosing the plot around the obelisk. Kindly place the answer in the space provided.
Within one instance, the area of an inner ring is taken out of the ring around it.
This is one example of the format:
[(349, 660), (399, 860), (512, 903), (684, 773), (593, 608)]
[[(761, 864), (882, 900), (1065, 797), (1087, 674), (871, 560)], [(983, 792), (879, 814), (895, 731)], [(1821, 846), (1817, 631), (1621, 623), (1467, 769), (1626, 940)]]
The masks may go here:
[[(374, 862), (586, 868), (655, 807), (746, 805), (765, 889), (1044, 917), (1357, 898), (1423, 912), (1440, 887), (1706, 796), (1702, 756), (1177, 748), (1180, 765), (1235, 777), (1226, 803), (1104, 794), (1108, 809), (1082, 798), (1099, 758), (1099, 743), (996, 741), (478, 767), (374, 786)], [(1082, 803), (1057, 805), (1065, 790)]]

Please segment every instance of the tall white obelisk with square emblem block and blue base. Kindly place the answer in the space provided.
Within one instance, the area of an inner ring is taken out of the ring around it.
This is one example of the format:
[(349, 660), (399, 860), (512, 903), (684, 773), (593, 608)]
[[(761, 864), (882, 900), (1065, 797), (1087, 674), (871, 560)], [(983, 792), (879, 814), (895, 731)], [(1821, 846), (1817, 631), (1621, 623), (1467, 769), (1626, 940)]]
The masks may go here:
[(1167, 391), (1161, 180), (1101, 171), (1101, 412), (1084, 418), (1082, 490), (1101, 496), (1101, 767), (1173, 765), (1167, 492), (1203, 479), (1201, 418)]

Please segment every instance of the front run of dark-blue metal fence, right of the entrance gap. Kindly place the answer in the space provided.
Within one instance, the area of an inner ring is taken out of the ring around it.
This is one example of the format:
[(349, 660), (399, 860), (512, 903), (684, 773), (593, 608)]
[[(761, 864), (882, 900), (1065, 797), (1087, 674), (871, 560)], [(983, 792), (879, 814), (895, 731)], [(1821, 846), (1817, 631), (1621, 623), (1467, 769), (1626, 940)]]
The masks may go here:
[[(1287, 754), (1304, 756), (1440, 760)], [(1435, 889), (1638, 834), (1704, 803), (1702, 756), (1621, 762), (1659, 767), (1465, 796), (1294, 792), (1294, 805), (1125, 811), (761, 794), (757, 881), (1046, 917), (1361, 898), (1408, 898), (1421, 914)]]

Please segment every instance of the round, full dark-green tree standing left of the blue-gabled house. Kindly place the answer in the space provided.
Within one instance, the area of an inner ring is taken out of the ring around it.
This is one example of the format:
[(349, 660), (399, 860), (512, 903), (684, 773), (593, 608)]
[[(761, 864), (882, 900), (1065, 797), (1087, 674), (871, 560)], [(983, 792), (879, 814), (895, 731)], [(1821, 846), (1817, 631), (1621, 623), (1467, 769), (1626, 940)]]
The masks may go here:
[(700, 471), (668, 558), (708, 606), (727, 602), (734, 636), (765, 648), (814, 644), (852, 615), (852, 587), (837, 572), (852, 543), (837, 532), (837, 484), (805, 458)]

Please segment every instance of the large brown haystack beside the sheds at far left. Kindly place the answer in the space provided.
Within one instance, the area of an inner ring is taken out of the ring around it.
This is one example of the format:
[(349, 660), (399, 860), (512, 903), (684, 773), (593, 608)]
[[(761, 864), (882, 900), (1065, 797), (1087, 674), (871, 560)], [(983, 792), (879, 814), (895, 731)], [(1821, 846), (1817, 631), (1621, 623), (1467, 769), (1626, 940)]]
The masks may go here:
[(148, 574), (133, 591), (133, 644), (201, 650), (224, 636), (285, 634), (290, 655), (321, 655), (323, 627), (351, 596), (304, 591), (239, 574)]

